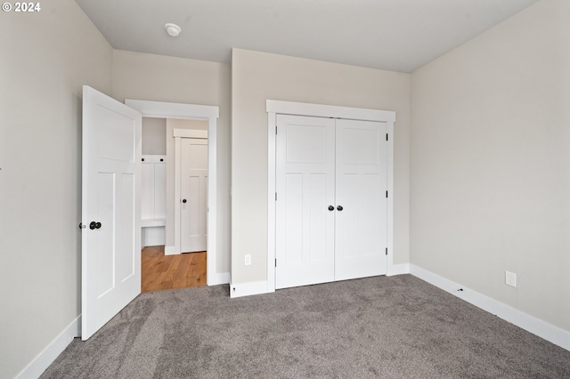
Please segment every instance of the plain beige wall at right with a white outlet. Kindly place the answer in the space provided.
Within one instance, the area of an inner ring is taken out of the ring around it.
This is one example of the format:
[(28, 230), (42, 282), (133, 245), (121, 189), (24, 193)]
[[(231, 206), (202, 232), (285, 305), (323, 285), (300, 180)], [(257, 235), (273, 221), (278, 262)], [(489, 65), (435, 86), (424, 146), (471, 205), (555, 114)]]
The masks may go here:
[(567, 331), (569, 104), (566, 0), (411, 77), (411, 263)]

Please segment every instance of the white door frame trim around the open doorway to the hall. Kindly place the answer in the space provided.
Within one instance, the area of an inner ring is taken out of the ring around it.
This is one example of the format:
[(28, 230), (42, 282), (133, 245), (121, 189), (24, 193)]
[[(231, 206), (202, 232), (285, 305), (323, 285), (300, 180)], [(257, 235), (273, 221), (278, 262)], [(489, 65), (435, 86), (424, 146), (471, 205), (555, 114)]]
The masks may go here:
[[(217, 152), (216, 133), (219, 107), (211, 105), (182, 104), (177, 102), (141, 101), (126, 99), (125, 104), (142, 113), (142, 117), (181, 118), (208, 121), (208, 238), (206, 254), (207, 284), (216, 286), (227, 283), (225, 274), (216, 273), (216, 220), (217, 220)], [(174, 136), (173, 136), (174, 137)], [(166, 253), (166, 252), (165, 252)]]

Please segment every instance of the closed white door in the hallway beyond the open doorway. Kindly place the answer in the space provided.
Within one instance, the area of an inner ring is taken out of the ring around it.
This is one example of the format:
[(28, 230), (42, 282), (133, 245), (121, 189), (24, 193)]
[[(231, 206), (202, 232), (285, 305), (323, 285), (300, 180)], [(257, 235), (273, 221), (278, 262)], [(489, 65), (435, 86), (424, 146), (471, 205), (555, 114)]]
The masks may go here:
[(206, 251), (208, 140), (182, 139), (181, 175), (181, 251)]

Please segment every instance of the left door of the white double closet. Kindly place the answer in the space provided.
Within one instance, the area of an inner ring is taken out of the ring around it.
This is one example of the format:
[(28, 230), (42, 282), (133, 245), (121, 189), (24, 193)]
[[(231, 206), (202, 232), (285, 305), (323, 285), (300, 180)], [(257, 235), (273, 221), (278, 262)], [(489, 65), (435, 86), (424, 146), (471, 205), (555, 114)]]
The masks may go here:
[(334, 280), (334, 125), (277, 117), (276, 288)]

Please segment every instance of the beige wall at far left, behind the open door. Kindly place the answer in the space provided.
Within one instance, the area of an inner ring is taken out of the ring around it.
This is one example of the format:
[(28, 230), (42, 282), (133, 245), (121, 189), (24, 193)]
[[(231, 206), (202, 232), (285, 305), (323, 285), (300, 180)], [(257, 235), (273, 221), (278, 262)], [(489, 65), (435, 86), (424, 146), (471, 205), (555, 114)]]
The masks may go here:
[(0, 377), (10, 378), (81, 311), (81, 86), (110, 94), (112, 49), (73, 1), (0, 18)]

